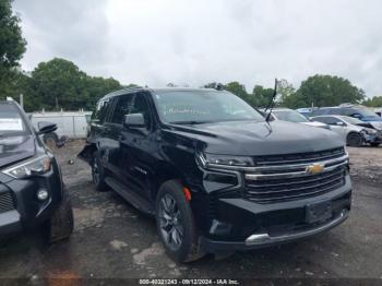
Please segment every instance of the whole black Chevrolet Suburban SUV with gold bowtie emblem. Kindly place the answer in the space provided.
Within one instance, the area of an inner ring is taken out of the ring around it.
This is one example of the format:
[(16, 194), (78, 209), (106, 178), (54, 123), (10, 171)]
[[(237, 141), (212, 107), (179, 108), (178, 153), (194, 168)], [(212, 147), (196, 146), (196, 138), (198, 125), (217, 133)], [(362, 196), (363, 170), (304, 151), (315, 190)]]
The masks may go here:
[(267, 122), (226, 91), (131, 88), (103, 97), (80, 157), (98, 191), (155, 215), (186, 262), (309, 237), (349, 213), (348, 155), (334, 132)]

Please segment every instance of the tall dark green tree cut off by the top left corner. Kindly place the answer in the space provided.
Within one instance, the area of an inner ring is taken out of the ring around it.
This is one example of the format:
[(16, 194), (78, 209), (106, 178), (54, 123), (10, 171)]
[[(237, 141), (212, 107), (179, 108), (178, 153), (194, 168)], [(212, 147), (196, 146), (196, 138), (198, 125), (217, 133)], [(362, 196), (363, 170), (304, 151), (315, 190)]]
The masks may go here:
[(16, 96), (22, 76), (19, 61), (25, 52), (20, 19), (12, 12), (12, 0), (0, 1), (0, 98)]

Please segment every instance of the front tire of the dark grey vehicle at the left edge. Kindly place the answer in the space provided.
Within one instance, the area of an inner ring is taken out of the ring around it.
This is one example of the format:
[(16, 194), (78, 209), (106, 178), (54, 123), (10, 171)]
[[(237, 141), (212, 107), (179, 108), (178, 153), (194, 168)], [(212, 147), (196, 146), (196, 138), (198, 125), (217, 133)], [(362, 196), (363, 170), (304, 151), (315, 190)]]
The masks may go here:
[(73, 210), (69, 193), (63, 187), (62, 201), (48, 221), (48, 241), (53, 243), (70, 237), (73, 233)]

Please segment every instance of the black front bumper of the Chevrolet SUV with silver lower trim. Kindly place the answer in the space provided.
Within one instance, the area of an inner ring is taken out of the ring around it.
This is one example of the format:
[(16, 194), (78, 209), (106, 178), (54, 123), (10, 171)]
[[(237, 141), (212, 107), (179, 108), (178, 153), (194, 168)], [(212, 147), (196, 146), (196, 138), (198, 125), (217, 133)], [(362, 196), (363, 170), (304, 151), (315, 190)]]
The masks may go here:
[[(330, 201), (332, 216), (307, 223), (307, 205)], [(202, 242), (208, 252), (250, 250), (286, 243), (326, 231), (348, 217), (351, 183), (332, 192), (303, 200), (258, 204), (244, 199), (219, 199), (210, 229)]]

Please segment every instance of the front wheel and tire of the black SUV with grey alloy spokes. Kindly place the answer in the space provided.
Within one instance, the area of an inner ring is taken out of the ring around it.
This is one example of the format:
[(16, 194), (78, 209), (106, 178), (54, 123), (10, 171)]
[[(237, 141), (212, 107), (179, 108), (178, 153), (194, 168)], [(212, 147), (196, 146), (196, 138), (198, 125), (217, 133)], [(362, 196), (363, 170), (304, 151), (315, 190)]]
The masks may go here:
[(201, 237), (179, 181), (162, 184), (155, 207), (157, 231), (167, 255), (180, 263), (202, 258), (205, 252), (201, 248)]

